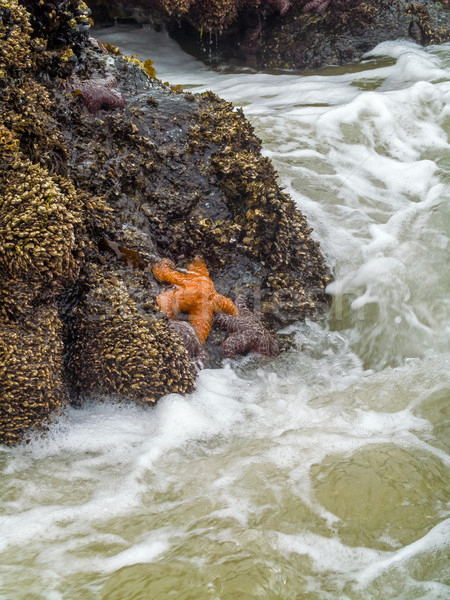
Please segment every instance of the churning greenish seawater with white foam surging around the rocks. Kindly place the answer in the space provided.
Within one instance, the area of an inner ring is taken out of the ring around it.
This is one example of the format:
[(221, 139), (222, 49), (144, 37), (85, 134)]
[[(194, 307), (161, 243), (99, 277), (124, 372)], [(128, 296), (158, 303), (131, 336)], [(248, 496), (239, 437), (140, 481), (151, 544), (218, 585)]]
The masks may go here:
[(316, 74), (101, 39), (243, 106), (334, 273), (327, 322), (154, 409), (0, 450), (0, 598), (450, 597), (450, 45)]

